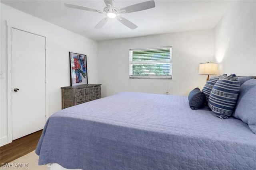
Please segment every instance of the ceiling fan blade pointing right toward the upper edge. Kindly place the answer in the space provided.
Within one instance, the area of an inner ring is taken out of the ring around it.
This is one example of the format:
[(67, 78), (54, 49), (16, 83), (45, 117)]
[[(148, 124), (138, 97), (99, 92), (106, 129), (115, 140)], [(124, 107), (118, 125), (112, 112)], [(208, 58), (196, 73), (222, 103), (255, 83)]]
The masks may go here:
[(122, 8), (122, 9), (120, 9), (120, 13), (130, 13), (130, 12), (142, 11), (142, 10), (154, 8), (155, 6), (156, 6), (155, 1), (150, 0), (150, 1), (142, 2), (139, 4), (134, 4), (134, 5)]

